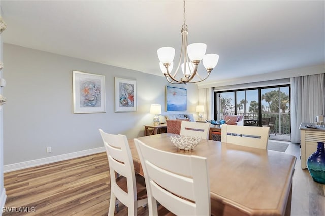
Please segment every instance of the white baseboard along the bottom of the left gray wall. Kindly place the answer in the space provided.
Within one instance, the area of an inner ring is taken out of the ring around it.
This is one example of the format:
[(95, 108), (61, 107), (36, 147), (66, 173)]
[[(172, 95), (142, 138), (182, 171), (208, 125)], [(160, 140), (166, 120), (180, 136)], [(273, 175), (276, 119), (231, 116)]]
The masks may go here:
[(53, 162), (58, 162), (58, 161), (63, 161), (63, 160), (68, 160), (72, 158), (78, 158), (86, 155), (92, 155), (100, 152), (105, 152), (105, 147), (99, 147), (95, 149), (88, 149), (88, 150), (83, 150), (79, 152), (72, 152), (68, 154), (63, 154), (63, 155), (56, 155), (52, 157), (47, 157), (47, 158), (41, 158), (37, 160), (31, 160), (31, 161), (25, 161), (25, 162), (20, 162), (20, 163), (15, 163), (15, 164), (8, 164), (4, 165), (4, 173), (6, 172), (11, 172), (11, 171), (16, 171), (20, 169), (25, 169), (29, 167), (34, 167), (34, 166), (39, 166), (43, 164), (49, 164)]

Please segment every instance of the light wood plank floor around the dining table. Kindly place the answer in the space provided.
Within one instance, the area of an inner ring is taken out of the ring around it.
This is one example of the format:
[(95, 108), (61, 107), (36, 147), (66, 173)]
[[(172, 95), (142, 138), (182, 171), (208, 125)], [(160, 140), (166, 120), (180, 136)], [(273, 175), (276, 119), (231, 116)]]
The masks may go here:
[[(325, 215), (325, 185), (300, 168), (300, 147), (290, 144), (286, 153), (297, 157), (291, 215)], [(5, 207), (35, 207), (34, 213), (3, 215), (107, 215), (110, 181), (106, 153), (56, 162), (4, 174)], [(126, 215), (120, 206), (117, 215)], [(140, 207), (138, 215), (148, 215)]]

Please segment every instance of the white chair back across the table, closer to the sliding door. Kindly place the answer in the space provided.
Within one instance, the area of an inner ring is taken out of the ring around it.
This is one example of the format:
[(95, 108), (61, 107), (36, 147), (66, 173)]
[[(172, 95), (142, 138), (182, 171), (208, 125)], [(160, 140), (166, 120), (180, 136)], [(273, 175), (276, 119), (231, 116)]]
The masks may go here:
[(221, 142), (267, 149), (269, 131), (269, 127), (223, 124), (221, 127)]

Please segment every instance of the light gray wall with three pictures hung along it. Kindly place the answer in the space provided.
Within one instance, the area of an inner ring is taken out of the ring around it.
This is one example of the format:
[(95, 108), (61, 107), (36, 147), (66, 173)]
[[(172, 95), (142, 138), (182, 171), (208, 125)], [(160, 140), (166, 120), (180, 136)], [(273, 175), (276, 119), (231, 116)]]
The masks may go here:
[[(99, 128), (128, 138), (143, 136), (143, 125), (153, 119), (152, 103), (167, 114), (165, 88), (173, 85), (164, 77), (11, 44), (4, 44), (4, 62), (5, 165), (102, 147)], [(106, 76), (106, 113), (72, 113), (72, 70)], [(114, 77), (137, 80), (138, 112), (114, 112)], [(174, 86), (187, 89), (187, 112), (177, 113), (196, 114), (197, 85)], [(46, 153), (49, 146), (52, 153)]]

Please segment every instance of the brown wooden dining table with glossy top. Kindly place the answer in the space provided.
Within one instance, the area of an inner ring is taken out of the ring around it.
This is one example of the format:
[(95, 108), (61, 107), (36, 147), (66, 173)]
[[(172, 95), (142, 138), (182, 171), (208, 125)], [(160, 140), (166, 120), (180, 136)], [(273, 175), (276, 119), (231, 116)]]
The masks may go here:
[[(295, 156), (207, 139), (193, 150), (180, 150), (171, 136), (176, 134), (137, 139), (159, 150), (207, 158), (211, 215), (290, 215)], [(133, 139), (129, 146), (135, 171), (144, 176)]]

